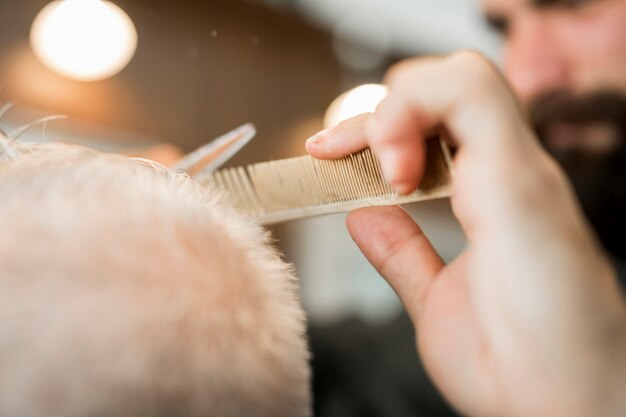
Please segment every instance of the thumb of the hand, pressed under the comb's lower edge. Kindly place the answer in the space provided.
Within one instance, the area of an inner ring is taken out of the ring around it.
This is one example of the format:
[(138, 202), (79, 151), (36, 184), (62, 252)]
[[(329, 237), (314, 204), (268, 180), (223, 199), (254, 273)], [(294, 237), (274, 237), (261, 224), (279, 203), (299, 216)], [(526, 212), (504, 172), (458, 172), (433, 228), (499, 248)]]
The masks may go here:
[(399, 207), (368, 207), (348, 216), (352, 239), (396, 291), (413, 321), (444, 263)]

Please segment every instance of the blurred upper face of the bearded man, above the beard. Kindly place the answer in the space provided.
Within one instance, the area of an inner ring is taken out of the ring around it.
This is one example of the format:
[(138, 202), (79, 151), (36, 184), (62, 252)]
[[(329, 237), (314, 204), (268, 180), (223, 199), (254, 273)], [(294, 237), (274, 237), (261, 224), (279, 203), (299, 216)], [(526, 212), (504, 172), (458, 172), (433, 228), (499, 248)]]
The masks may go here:
[(626, 93), (626, 0), (482, 0), (525, 102), (555, 90)]

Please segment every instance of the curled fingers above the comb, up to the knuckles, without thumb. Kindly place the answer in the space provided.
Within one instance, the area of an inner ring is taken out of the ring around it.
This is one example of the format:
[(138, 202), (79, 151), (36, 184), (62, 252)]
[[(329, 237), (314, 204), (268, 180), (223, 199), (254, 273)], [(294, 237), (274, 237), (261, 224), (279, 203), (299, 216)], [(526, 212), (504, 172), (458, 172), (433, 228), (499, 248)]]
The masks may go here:
[(396, 191), (407, 193), (423, 172), (423, 139), (441, 126), (463, 154), (488, 165), (505, 160), (503, 153), (521, 157), (515, 156), (524, 154), (520, 147), (533, 142), (513, 93), (478, 53), (404, 61), (390, 71), (387, 83), (390, 93), (364, 131), (363, 120), (351, 128), (339, 126), (307, 150), (315, 157), (339, 158), (368, 145)]

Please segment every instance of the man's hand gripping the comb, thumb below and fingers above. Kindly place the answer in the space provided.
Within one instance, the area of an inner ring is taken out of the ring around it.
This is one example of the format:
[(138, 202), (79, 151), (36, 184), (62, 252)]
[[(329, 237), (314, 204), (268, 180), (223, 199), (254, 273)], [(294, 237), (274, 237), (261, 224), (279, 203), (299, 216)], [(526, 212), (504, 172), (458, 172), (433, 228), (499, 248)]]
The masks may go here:
[(423, 138), (445, 126), (455, 215), (470, 242), (444, 265), (397, 207), (351, 213), (364, 254), (402, 299), (433, 380), (470, 416), (626, 415), (626, 308), (560, 169), (483, 57), (394, 68), (376, 113), (307, 142), (317, 158), (370, 146), (400, 193), (424, 168)]

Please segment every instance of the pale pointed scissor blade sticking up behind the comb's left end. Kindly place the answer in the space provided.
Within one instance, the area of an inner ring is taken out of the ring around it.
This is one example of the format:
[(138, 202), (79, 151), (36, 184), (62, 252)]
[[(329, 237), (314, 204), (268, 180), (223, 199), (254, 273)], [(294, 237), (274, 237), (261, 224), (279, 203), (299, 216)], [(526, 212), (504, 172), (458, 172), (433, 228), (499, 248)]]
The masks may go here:
[(210, 174), (224, 165), (255, 135), (254, 125), (246, 123), (183, 156), (171, 170), (184, 171), (191, 177)]

